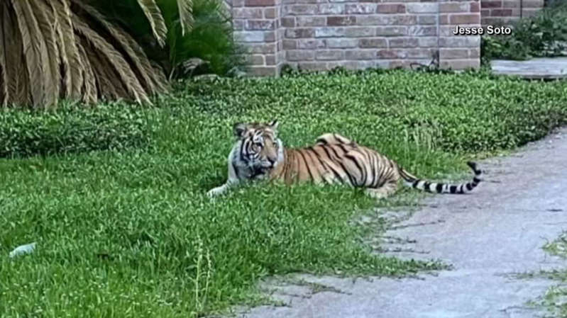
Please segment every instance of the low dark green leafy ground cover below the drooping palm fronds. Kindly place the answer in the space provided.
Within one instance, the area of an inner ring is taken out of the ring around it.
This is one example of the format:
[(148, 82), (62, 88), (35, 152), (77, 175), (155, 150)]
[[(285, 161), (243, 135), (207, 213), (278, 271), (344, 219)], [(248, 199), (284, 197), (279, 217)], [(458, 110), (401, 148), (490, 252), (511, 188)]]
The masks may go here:
[(0, 157), (66, 154), (144, 147), (147, 112), (134, 106), (60, 106), (56, 112), (0, 112)]

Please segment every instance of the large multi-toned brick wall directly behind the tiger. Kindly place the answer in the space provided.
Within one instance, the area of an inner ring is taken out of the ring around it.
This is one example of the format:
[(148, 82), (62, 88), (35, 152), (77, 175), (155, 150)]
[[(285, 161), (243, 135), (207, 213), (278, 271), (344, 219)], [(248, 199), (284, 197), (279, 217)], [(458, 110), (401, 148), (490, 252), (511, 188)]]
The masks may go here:
[[(442, 68), (480, 65), (480, 37), (453, 35), (480, 26), (478, 0), (231, 0), (235, 37), (251, 72), (277, 75), (283, 64), (410, 67), (439, 54)], [(524, 0), (525, 1), (525, 0)]]

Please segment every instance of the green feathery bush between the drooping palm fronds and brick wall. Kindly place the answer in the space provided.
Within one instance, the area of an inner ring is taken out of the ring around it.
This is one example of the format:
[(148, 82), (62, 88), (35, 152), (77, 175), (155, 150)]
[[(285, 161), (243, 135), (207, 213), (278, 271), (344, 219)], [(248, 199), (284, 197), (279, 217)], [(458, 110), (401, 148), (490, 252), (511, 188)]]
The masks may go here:
[(191, 73), (183, 65), (198, 57), (208, 61), (207, 72), (228, 75), (233, 67), (243, 67), (240, 47), (233, 40), (230, 15), (222, 0), (194, 0), (193, 28), (185, 36), (179, 20), (177, 1), (156, 1), (167, 25), (166, 47), (162, 48), (150, 36), (151, 29), (140, 6), (134, 0), (94, 1), (105, 16), (119, 23), (141, 43), (148, 57), (165, 69), (167, 76), (182, 78)]

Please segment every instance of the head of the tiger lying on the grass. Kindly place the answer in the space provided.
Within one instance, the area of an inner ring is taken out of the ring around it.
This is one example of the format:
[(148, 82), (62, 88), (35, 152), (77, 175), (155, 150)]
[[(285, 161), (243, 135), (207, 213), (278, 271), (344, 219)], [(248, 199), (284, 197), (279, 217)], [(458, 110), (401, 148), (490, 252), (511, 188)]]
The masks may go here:
[(256, 171), (266, 173), (283, 160), (283, 144), (277, 138), (277, 120), (271, 123), (236, 123), (234, 135), (240, 144), (241, 161)]

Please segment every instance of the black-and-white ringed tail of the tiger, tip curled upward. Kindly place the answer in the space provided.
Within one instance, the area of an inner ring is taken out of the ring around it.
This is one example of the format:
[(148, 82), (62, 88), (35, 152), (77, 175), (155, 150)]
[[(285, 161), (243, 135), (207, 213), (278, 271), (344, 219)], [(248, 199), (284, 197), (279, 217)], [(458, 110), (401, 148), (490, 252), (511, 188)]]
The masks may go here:
[(478, 183), (482, 181), (481, 177), (483, 175), (483, 171), (478, 169), (477, 164), (473, 161), (468, 161), (467, 165), (470, 166), (470, 169), (473, 169), (475, 176), (473, 177), (473, 181), (469, 181), (466, 183), (460, 184), (449, 184), (449, 183), (438, 183), (438, 182), (430, 182), (425, 181), (422, 179), (417, 178), (416, 176), (412, 176), (409, 172), (402, 169), (402, 167), (398, 166), (400, 176), (404, 179), (404, 184), (406, 186), (410, 186), (412, 188), (417, 188), (422, 191), (431, 192), (431, 193), (451, 193), (451, 194), (465, 194), (473, 191)]

